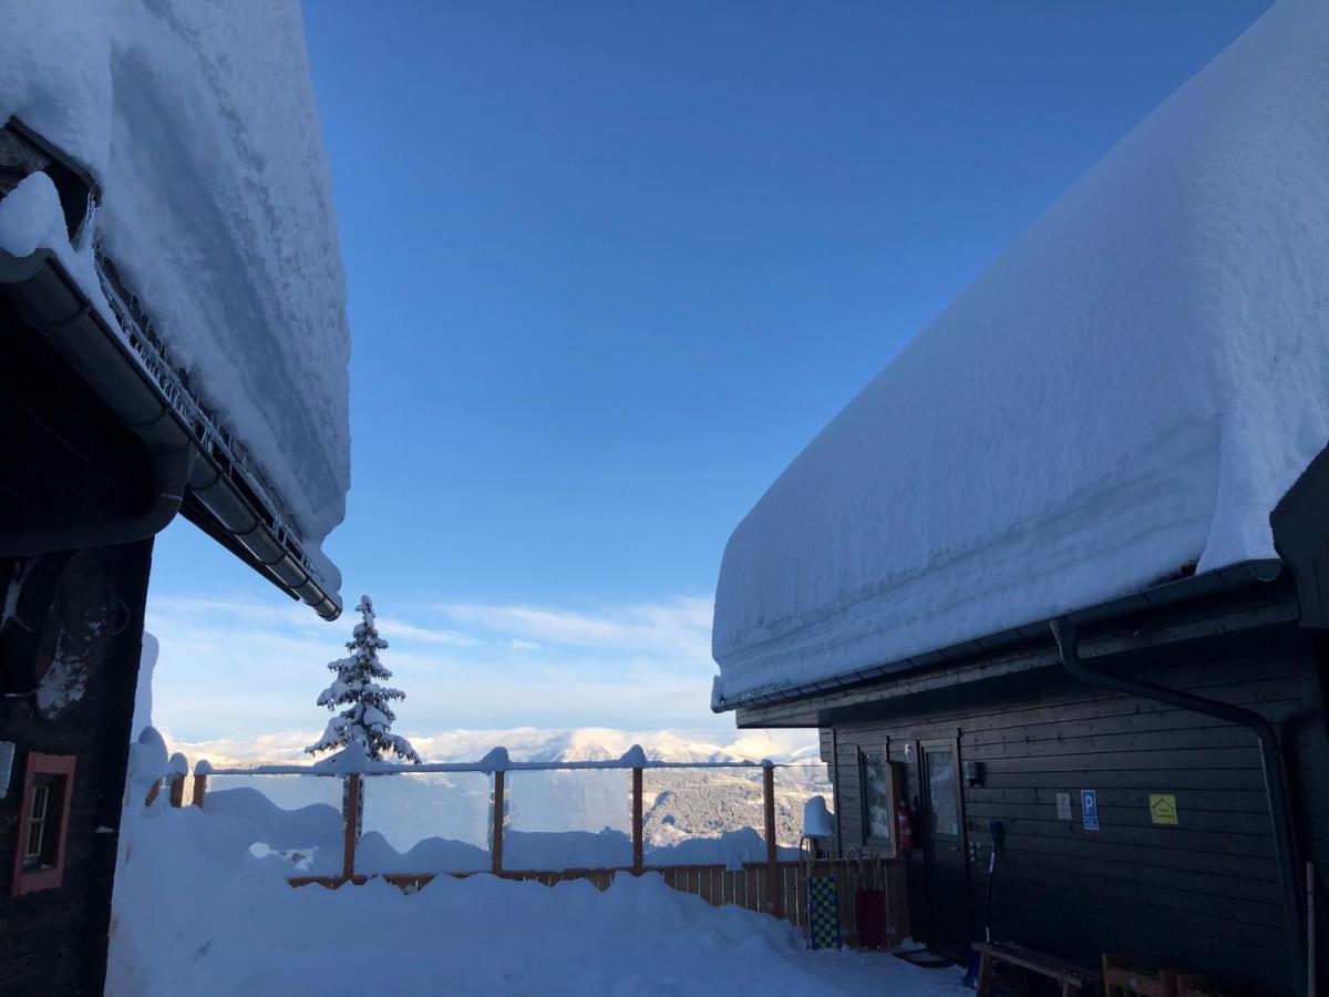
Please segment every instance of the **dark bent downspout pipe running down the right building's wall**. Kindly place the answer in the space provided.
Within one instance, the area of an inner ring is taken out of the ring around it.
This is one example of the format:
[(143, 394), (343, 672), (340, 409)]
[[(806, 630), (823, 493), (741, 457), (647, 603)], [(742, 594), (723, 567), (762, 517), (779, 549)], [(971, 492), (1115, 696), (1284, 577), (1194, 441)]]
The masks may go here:
[(1183, 693), (1179, 689), (1144, 682), (1143, 679), (1095, 671), (1079, 657), (1079, 638), (1075, 626), (1065, 617), (1051, 621), (1053, 637), (1061, 650), (1062, 666), (1073, 678), (1090, 686), (1111, 689), (1142, 699), (1167, 703), (1179, 710), (1213, 717), (1251, 730), (1260, 742), (1260, 763), (1264, 768), (1264, 792), (1269, 804), (1269, 824), (1273, 831), (1273, 853), (1278, 864), (1278, 883), (1282, 888), (1282, 911), (1288, 931), (1288, 953), (1292, 960), (1292, 985), (1298, 997), (1306, 993), (1305, 928), (1301, 913), (1301, 880), (1297, 876), (1297, 839), (1292, 826), (1290, 796), (1282, 770), (1282, 750), (1278, 734), (1264, 717), (1231, 703)]

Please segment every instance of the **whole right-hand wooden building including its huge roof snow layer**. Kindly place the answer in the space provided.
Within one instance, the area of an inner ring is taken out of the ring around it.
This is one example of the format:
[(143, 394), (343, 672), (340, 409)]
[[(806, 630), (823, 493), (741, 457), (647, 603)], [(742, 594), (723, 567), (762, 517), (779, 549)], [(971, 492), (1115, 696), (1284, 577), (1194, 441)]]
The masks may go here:
[(1326, 52), (1276, 4), (728, 542), (712, 706), (820, 728), (839, 848), (901, 856), (930, 946), (1324, 978)]

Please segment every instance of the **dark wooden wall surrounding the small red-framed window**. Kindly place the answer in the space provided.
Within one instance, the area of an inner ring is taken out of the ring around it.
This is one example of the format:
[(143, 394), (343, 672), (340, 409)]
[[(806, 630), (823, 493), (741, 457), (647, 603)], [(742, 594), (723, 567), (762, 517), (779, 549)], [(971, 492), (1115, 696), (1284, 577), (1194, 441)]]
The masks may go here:
[[(39, 709), (32, 694), (0, 697), (0, 740), (16, 743), (9, 794), (0, 799), (0, 993), (101, 994), (105, 980), (112, 883), (142, 646), (152, 541), (81, 550), (64, 558), (58, 581), (31, 592), (21, 613), (56, 641), (28, 650), (61, 655), (82, 671), (82, 695), (62, 709)], [(0, 560), (0, 585), (13, 561)], [(40, 577), (31, 573), (31, 578)], [(44, 610), (56, 614), (45, 626)], [(24, 643), (5, 642), (8, 655)], [(9, 674), (31, 662), (7, 661)], [(35, 671), (44, 670), (39, 662)], [(29, 751), (76, 755), (64, 881), (58, 888), (9, 895), (23, 766)]]

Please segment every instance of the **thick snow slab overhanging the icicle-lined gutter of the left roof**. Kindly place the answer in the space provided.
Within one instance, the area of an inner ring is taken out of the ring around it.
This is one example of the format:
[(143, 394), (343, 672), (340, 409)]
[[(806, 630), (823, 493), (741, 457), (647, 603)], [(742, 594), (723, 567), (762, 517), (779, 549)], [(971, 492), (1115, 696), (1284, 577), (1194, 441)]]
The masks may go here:
[(102, 250), (312, 548), (350, 484), (350, 334), (299, 4), (0, 0), (0, 122), (96, 177)]

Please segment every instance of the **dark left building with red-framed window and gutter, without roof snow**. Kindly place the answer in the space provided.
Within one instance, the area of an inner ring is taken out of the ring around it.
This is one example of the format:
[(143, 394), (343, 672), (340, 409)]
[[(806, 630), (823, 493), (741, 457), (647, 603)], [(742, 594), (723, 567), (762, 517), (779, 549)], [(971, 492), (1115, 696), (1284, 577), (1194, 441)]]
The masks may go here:
[[(74, 239), (92, 177), (11, 120), (0, 203), (35, 173)], [(262, 476), (97, 259), (0, 249), (0, 992), (100, 994), (153, 537), (177, 514), (324, 618), (335, 588)], [(86, 279), (86, 278), (84, 278)]]

